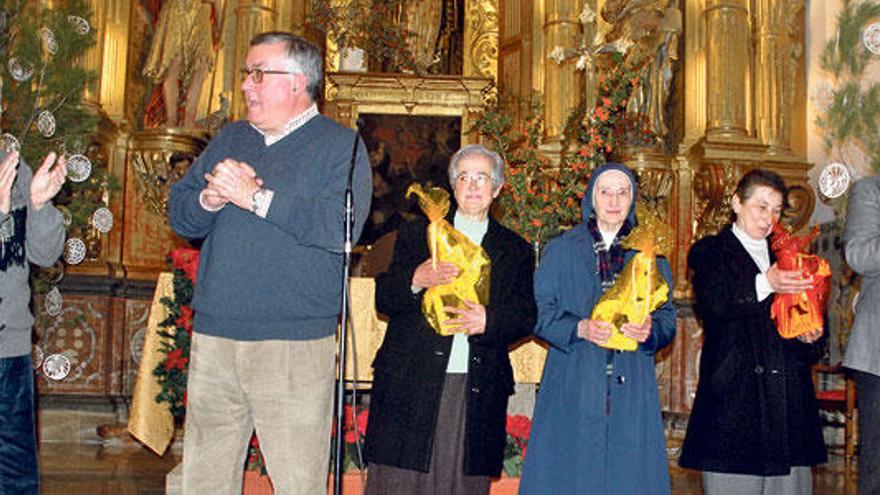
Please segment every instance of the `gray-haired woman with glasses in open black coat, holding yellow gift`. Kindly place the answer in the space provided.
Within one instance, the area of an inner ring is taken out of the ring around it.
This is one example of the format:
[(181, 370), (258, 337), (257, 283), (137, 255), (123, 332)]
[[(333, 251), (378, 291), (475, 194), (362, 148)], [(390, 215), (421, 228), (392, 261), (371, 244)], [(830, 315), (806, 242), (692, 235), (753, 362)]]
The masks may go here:
[(426, 219), (404, 224), (388, 271), (376, 279), (376, 307), (388, 332), (373, 361), (367, 426), (367, 493), (480, 494), (501, 474), (511, 344), (535, 323), (530, 246), (489, 216), (504, 163), (481, 145), (449, 164), (456, 207), (447, 220), (491, 260), (489, 302), (446, 308), (460, 332), (441, 336), (422, 314), (425, 290), (451, 282), (452, 263), (433, 267)]

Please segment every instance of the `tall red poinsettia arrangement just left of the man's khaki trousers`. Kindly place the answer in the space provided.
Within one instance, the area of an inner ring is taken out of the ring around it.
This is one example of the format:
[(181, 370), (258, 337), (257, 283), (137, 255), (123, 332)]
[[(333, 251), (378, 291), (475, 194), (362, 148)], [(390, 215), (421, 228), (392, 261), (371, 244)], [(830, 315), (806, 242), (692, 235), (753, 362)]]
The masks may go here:
[(162, 298), (168, 316), (159, 323), (162, 328), (159, 335), (165, 337), (159, 351), (165, 354), (165, 359), (156, 366), (153, 375), (162, 387), (156, 402), (167, 402), (174, 419), (180, 422), (186, 412), (186, 376), (193, 324), (190, 304), (199, 266), (199, 251), (175, 249), (168, 258), (174, 272), (174, 297)]

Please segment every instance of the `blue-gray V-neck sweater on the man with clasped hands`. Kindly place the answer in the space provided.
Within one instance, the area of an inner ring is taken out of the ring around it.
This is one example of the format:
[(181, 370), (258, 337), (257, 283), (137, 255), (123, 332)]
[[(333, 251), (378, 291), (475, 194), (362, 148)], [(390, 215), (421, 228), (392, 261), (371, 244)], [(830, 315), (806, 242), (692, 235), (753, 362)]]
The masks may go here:
[[(319, 115), (266, 146), (247, 122), (234, 122), (174, 184), (171, 227), (205, 240), (193, 296), (197, 332), (236, 340), (308, 340), (336, 331), (354, 139), (354, 131)], [(372, 190), (363, 143), (358, 148), (355, 240)], [(250, 164), (275, 192), (265, 219), (231, 203), (216, 213), (199, 204), (205, 172), (225, 158)]]

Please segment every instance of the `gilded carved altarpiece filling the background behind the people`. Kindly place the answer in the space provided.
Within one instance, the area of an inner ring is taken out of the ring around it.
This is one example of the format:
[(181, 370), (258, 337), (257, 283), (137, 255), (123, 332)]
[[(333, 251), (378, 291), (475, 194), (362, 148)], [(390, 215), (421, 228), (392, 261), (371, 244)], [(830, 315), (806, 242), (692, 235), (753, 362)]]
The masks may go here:
[[(227, 115), (240, 118), (237, 69), (250, 37), (266, 28), (292, 29), (313, 39), (314, 34), (305, 23), (304, 0), (229, 2), (200, 111), (223, 110), (222, 95)], [(676, 230), (671, 261), (679, 331), (658, 361), (658, 376), (663, 408), (687, 412), (697, 381), (701, 331), (688, 309), (685, 253), (695, 239), (727, 221), (732, 188), (751, 168), (772, 168), (794, 186), (790, 219), (795, 225), (809, 218), (814, 195), (806, 181), (806, 116), (803, 98), (798, 98), (805, 94), (804, 0), (670, 2), (678, 3), (683, 24), (668, 109), (677, 131), (660, 149), (625, 148), (618, 158), (641, 176), (642, 199), (665, 212)], [(599, 12), (605, 1), (467, 0), (462, 76), (329, 70), (323, 111), (352, 127), (362, 113), (459, 116), (466, 130), (493, 88), (520, 95), (538, 90), (552, 110), (547, 114), (555, 123), (548, 126), (552, 138), (568, 106), (586, 91), (590, 74), (555, 66), (547, 55), (555, 44), (580, 43), (583, 32), (576, 24), (585, 3)], [(144, 3), (90, 4), (101, 13), (95, 28), (102, 36), (84, 61), (100, 74), (88, 101), (102, 116), (97, 141), (120, 183), (110, 198), (117, 225), (102, 241), (100, 257), (68, 275), (76, 283), (66, 289), (66, 311), (77, 317), (77, 325), (63, 328), (50, 322), (39, 329), (43, 352), (69, 354), (75, 373), (57, 383), (41, 379), (39, 386), (44, 393), (121, 396), (130, 389), (136, 368), (152, 284), (166, 269), (165, 254), (183, 241), (170, 233), (161, 211), (148, 206), (139, 182), (146, 169), (139, 172), (134, 159), (149, 151), (138, 144), (149, 138), (141, 134), (138, 115), (147, 93), (139, 76), (149, 39)], [(474, 140), (463, 135), (461, 142)], [(156, 144), (153, 152), (168, 149)]]

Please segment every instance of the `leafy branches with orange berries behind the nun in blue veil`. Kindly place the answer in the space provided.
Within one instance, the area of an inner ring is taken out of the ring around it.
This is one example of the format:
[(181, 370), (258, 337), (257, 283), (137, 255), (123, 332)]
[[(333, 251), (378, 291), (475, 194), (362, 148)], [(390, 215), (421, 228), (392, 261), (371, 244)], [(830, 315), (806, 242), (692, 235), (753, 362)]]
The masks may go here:
[[(540, 95), (533, 95), (525, 105), (502, 98), (487, 105), (474, 123), (473, 130), (507, 164), (504, 189), (498, 198), (501, 221), (530, 242), (544, 243), (580, 222), (580, 200), (590, 171), (603, 165), (620, 146), (634, 139), (654, 142), (645, 123), (626, 112), (627, 99), (642, 81), (626, 72), (622, 55), (613, 57), (610, 68), (599, 75), (595, 106), (587, 113), (582, 104), (569, 115), (558, 166), (542, 149)], [(521, 127), (509, 113), (515, 105), (526, 107)]]

